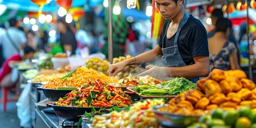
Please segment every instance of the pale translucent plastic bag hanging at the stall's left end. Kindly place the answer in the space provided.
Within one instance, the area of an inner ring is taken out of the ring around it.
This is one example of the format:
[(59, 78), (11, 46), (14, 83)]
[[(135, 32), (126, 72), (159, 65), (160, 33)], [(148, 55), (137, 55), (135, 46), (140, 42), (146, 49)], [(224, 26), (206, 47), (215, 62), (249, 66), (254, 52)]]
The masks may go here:
[(31, 107), (29, 100), (29, 93), (31, 92), (31, 84), (27, 84), (27, 86), (23, 89), (20, 94), (18, 101), (16, 102), (17, 106), (17, 116), (20, 119), (21, 127), (32, 127), (31, 124)]

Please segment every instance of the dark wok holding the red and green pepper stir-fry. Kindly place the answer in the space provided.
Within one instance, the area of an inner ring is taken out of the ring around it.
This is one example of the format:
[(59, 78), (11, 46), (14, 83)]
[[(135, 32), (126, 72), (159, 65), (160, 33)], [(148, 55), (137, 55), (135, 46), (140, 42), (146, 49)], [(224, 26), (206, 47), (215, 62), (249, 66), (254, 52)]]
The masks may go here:
[[(65, 107), (65, 106), (57, 106), (55, 102), (47, 102), (47, 107), (52, 107), (54, 113), (68, 121), (78, 121), (80, 117), (79, 115), (84, 115), (85, 111), (90, 113), (92, 111), (92, 107)], [(100, 108), (106, 107), (94, 107), (95, 110), (100, 110)]]

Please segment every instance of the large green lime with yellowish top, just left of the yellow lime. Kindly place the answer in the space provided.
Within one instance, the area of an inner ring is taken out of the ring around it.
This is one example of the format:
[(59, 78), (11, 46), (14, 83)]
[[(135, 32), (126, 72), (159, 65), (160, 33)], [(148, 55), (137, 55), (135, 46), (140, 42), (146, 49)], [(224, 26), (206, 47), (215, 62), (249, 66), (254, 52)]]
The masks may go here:
[(227, 125), (230, 126), (233, 126), (238, 117), (239, 113), (237, 110), (227, 110), (222, 115), (222, 119), (226, 122)]

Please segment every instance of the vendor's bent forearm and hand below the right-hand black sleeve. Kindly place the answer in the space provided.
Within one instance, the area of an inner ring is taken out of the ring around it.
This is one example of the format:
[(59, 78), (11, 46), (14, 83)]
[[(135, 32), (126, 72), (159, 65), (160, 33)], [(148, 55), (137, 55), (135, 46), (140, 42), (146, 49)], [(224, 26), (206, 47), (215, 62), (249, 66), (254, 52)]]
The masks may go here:
[(185, 67), (157, 67), (149, 65), (146, 67), (146, 71), (137, 76), (150, 75), (154, 78), (163, 77), (185, 77), (196, 78), (209, 75), (209, 57), (194, 57), (195, 63), (193, 65)]

